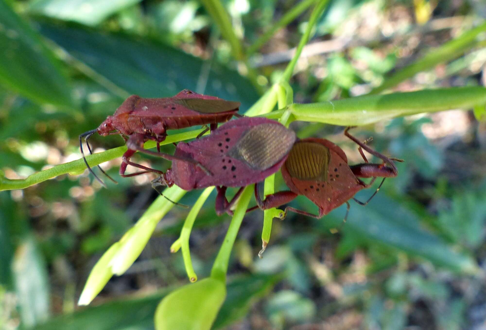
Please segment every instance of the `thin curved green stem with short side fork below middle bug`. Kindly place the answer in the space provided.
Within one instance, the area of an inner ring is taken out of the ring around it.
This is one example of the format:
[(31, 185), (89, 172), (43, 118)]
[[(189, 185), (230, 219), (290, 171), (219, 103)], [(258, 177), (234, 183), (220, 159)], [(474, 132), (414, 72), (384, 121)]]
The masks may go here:
[(187, 276), (189, 277), (189, 281), (195, 282), (197, 281), (197, 275), (194, 272), (194, 268), (192, 267), (191, 261), (191, 251), (189, 249), (189, 237), (191, 236), (192, 226), (194, 225), (194, 221), (196, 220), (196, 216), (203, 207), (204, 202), (208, 199), (211, 192), (214, 190), (214, 186), (208, 187), (204, 189), (204, 191), (199, 195), (194, 206), (192, 206), (191, 211), (186, 217), (184, 221), (184, 225), (182, 226), (182, 230), (180, 233), (179, 238), (174, 242), (171, 246), (171, 252), (177, 252), (179, 248), (182, 249), (182, 259), (184, 260), (184, 266), (186, 268)]

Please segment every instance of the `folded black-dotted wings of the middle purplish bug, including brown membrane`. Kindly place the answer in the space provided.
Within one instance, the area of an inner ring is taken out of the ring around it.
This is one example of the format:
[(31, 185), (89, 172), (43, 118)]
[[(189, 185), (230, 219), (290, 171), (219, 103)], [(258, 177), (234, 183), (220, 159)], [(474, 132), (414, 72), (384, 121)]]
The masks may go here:
[[(251, 119), (256, 125), (252, 125)], [(261, 120), (264, 119), (264, 120)], [(188, 144), (194, 159), (213, 173), (198, 180), (211, 185), (244, 186), (278, 171), (295, 143), (295, 133), (266, 118), (240, 118)]]

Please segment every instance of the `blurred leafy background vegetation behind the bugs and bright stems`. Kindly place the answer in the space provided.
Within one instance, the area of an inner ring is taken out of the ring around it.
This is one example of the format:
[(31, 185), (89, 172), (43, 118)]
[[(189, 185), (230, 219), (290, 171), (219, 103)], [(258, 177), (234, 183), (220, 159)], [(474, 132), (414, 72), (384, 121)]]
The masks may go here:
[[(0, 62), (25, 82), (14, 88), (0, 77), (0, 169), (10, 179), (80, 158), (77, 136), (96, 128), (130, 94), (165, 97), (189, 88), (239, 100), (246, 111), (278, 80), (309, 13), (278, 30), (247, 67), (235, 62), (198, 1), (7, 2), (20, 24), (40, 33), (1, 30), (13, 19), (1, 4)], [(248, 45), (295, 4), (224, 3)], [(297, 64), (291, 82), (295, 101), (364, 94), (385, 74), (480, 23), (485, 8), (475, 0), (330, 1)], [(39, 52), (52, 54), (51, 62), (26, 52), (30, 67), (24, 70), (25, 61), (8, 52), (18, 53), (22, 43), (16, 40), (38, 43)], [(395, 89), (483, 85), (485, 62), (486, 49), (478, 45)], [(45, 91), (29, 95), (32, 84)], [(291, 127), (299, 137), (331, 139), (350, 163), (361, 162), (343, 128)], [(343, 207), (320, 220), (289, 214), (275, 221), (262, 260), (257, 252), (263, 215), (248, 214), (215, 328), (486, 329), (485, 123), (454, 110), (384, 121), (355, 134), (363, 140), (373, 136), (373, 148), (404, 159), (399, 177), (385, 181), (365, 208), (352, 203), (337, 234), (329, 229), (340, 225)], [(122, 143), (118, 136), (92, 138), (97, 151)], [(157, 168), (170, 165), (135, 159)], [(71, 314), (79, 309), (92, 266), (157, 196), (150, 176), (117, 177), (120, 162), (103, 165), (119, 181), (108, 182), (108, 189), (85, 171), (0, 192), (0, 328), (24, 329), (54, 317), (39, 329), (151, 329), (161, 297), (157, 290), (188, 282), (180, 252), (169, 252), (188, 212), (174, 207), (138, 261), (94, 300), (99, 307)], [(277, 183), (285, 189), (280, 175)], [(198, 195), (190, 192), (182, 202), (191, 205)], [(292, 205), (316, 211), (306, 198)], [(228, 220), (215, 215), (213, 193), (191, 233), (192, 261), (201, 278), (208, 275)]]

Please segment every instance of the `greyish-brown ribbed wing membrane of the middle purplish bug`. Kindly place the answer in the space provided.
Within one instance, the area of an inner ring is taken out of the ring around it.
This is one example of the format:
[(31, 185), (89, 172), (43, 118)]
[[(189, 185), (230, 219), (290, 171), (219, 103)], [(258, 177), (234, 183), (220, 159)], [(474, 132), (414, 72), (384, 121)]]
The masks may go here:
[(261, 124), (243, 134), (227, 155), (265, 170), (280, 161), (295, 143), (295, 133), (280, 124)]

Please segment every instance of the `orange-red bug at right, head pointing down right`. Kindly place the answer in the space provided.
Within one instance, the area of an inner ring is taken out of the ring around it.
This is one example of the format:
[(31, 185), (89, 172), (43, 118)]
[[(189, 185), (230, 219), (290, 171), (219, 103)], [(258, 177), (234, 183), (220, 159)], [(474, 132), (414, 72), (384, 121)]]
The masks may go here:
[[(347, 201), (353, 198), (361, 189), (370, 187), (377, 177), (383, 178), (383, 181), (385, 178), (396, 177), (398, 171), (392, 160), (402, 161), (396, 158), (388, 158), (369, 148), (350, 135), (348, 130), (349, 127), (345, 130), (345, 135), (359, 145), (358, 150), (365, 164), (349, 166), (344, 151), (329, 140), (319, 138), (300, 140), (295, 143), (281, 168), (283, 179), (290, 191), (281, 191), (268, 195), (262, 201), (256, 185), (255, 197), (258, 206), (263, 210), (278, 207), (290, 202), (298, 195), (304, 195), (319, 207), (319, 214), (311, 214), (293, 207), (286, 207), (284, 214), (287, 214), (287, 211), (292, 211), (321, 218), (331, 210), (346, 203), (346, 220), (349, 211), (349, 203)], [(368, 163), (362, 149), (381, 158), (383, 163)], [(372, 180), (369, 183), (365, 183), (359, 178), (372, 178)], [(366, 202), (360, 202), (356, 198), (353, 199), (361, 205), (366, 205), (378, 192), (383, 181)]]

